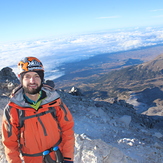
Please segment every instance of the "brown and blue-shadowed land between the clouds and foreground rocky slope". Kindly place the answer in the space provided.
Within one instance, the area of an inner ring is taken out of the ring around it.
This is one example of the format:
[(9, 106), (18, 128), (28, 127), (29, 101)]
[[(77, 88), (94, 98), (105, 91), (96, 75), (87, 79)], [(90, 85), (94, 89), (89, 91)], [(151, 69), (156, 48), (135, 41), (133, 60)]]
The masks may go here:
[[(153, 76), (151, 68), (154, 63), (150, 64), (161, 54), (163, 45), (100, 54), (87, 60), (66, 63), (59, 67), (65, 75), (54, 80), (55, 88), (69, 92), (76, 87), (84, 96), (94, 100), (110, 103), (124, 100), (132, 104), (138, 113), (162, 116), (163, 75), (154, 70)], [(159, 62), (163, 63), (162, 60)], [(148, 68), (138, 71), (146, 63), (149, 63)], [(155, 67), (160, 67), (161, 63)]]

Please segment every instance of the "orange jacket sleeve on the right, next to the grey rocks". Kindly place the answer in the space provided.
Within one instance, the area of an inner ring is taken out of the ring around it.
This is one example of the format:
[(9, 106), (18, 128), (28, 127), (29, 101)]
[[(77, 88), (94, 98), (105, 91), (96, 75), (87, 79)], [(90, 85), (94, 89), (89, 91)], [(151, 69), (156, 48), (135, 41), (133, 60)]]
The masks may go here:
[(67, 106), (60, 101), (57, 112), (58, 122), (62, 133), (62, 154), (65, 161), (74, 160), (74, 120)]

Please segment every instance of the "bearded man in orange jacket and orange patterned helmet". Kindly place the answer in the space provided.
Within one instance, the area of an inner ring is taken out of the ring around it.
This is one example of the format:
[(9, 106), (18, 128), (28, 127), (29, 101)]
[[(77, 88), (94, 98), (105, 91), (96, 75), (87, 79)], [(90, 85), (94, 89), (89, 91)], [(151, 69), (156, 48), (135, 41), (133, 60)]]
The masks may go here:
[[(9, 163), (73, 163), (74, 121), (58, 93), (44, 85), (35, 57), (18, 63), (21, 85), (4, 109), (2, 141)], [(22, 158), (22, 159), (21, 159)]]

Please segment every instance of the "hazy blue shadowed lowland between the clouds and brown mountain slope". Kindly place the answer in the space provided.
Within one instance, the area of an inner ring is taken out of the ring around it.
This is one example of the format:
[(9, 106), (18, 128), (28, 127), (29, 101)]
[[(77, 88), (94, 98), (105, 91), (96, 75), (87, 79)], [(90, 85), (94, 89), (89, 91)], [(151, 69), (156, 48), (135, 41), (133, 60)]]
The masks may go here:
[(163, 54), (163, 46), (151, 46), (129, 51), (104, 53), (87, 60), (65, 63), (58, 67), (65, 75), (54, 80), (57, 88), (69, 90), (72, 86), (88, 84), (113, 70), (151, 61)]

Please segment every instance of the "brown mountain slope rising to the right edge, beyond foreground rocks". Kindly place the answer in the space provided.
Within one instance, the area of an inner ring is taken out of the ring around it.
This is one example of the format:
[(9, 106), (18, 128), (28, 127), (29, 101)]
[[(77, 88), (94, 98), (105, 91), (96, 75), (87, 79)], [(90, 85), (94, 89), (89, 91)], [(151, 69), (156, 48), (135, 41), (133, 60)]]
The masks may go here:
[(147, 88), (163, 85), (163, 54), (150, 62), (113, 70), (89, 84), (80, 86), (84, 93), (102, 99), (123, 96), (131, 91), (140, 92)]

